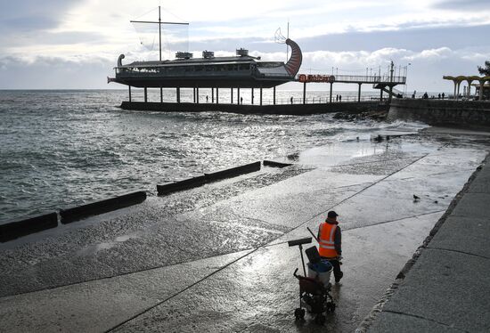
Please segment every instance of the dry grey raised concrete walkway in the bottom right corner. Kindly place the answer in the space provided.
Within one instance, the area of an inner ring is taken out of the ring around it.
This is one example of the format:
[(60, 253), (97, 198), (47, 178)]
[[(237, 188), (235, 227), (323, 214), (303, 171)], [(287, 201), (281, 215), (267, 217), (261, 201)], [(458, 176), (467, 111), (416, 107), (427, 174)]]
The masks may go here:
[(372, 312), (374, 321), (359, 332), (490, 331), (489, 162), (453, 200)]

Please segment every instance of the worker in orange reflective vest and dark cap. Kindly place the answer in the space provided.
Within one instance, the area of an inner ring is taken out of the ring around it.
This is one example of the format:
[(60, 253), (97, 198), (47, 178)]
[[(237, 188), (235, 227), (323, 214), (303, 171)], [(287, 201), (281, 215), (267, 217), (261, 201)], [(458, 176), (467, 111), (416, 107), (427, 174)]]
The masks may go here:
[(337, 221), (337, 213), (331, 210), (327, 214), (325, 222), (318, 228), (318, 245), (320, 256), (327, 259), (333, 266), (335, 282), (339, 283), (344, 275), (340, 271), (340, 259), (342, 258), (342, 234)]

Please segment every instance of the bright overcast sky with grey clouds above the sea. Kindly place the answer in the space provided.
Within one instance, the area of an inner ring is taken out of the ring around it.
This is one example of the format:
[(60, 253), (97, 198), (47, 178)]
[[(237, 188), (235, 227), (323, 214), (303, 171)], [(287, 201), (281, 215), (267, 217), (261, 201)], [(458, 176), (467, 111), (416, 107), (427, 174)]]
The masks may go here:
[(159, 4), (162, 20), (190, 23), (194, 56), (245, 47), (285, 61), (274, 32), (285, 35), (289, 20), (303, 73), (384, 72), (392, 60), (407, 67), (408, 91), (447, 92), (443, 75), (477, 75), (490, 60), (490, 0), (4, 0), (0, 89), (124, 88), (106, 83), (120, 53), (124, 62), (159, 56), (129, 20), (157, 20)]

